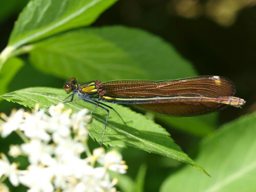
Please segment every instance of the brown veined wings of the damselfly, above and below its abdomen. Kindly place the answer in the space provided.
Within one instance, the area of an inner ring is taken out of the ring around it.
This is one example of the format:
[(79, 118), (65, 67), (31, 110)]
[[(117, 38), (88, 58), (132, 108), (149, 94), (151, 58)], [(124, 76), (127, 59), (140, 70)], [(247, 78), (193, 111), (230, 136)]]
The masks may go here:
[[(115, 97), (154, 97), (175, 95), (233, 96), (232, 81), (219, 76), (200, 76), (169, 81), (124, 80), (102, 84), (105, 94)], [(133, 105), (133, 104), (132, 104)], [(219, 111), (227, 105), (210, 102), (134, 104), (136, 108), (173, 117), (204, 115)]]

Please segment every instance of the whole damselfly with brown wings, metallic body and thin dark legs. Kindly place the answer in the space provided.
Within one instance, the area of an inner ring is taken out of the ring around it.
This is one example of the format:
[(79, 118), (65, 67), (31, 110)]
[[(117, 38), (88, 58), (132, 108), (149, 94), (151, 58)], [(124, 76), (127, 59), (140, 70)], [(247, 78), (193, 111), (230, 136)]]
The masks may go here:
[[(161, 81), (114, 80), (101, 82), (95, 80), (82, 84), (77, 83), (76, 78), (71, 78), (64, 89), (67, 93), (73, 91), (70, 101), (65, 103), (73, 101), (76, 94), (83, 101), (95, 105), (91, 114), (97, 107), (108, 113), (101, 145), (108, 124), (109, 109), (117, 113), (115, 109), (101, 101), (128, 104), (157, 115), (170, 117), (205, 115), (222, 110), (228, 105), (241, 108), (245, 103), (244, 99), (233, 97), (236, 92), (233, 82), (220, 76), (199, 76)], [(122, 119), (120, 115), (119, 117)]]

